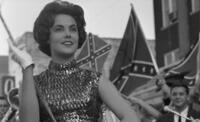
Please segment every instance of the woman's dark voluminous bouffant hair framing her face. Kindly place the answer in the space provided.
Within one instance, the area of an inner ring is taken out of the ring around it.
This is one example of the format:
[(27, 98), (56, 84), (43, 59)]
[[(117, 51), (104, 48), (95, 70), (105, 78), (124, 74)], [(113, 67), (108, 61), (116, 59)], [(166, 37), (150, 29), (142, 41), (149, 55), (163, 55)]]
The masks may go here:
[(33, 27), (33, 36), (39, 44), (39, 49), (48, 56), (51, 56), (48, 43), (50, 28), (53, 26), (55, 16), (58, 14), (68, 14), (75, 19), (79, 33), (78, 48), (82, 46), (86, 39), (84, 11), (79, 5), (61, 0), (48, 3), (40, 12)]

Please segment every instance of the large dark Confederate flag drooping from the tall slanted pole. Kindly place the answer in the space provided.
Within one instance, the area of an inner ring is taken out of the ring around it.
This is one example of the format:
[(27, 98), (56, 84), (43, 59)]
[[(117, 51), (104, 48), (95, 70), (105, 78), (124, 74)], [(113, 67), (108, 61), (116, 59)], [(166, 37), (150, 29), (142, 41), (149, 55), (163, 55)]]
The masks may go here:
[(132, 6), (124, 36), (110, 71), (110, 80), (121, 93), (129, 96), (157, 72), (157, 65)]

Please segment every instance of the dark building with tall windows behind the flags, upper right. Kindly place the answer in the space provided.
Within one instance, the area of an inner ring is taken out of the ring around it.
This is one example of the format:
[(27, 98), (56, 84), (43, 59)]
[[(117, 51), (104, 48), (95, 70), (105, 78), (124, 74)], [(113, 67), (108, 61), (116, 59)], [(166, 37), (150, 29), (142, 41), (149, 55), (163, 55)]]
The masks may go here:
[(184, 58), (199, 39), (200, 0), (154, 0), (156, 60), (167, 67)]

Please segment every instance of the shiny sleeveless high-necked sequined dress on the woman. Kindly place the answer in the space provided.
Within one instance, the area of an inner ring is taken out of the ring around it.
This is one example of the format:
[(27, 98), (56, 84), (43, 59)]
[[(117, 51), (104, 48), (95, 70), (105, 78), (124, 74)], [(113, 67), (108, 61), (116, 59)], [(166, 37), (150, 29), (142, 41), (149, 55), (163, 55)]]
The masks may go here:
[(102, 104), (99, 78), (100, 73), (79, 68), (75, 60), (62, 65), (51, 61), (46, 71), (34, 77), (40, 122), (52, 122), (47, 106), (57, 122), (97, 122)]

